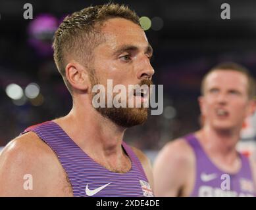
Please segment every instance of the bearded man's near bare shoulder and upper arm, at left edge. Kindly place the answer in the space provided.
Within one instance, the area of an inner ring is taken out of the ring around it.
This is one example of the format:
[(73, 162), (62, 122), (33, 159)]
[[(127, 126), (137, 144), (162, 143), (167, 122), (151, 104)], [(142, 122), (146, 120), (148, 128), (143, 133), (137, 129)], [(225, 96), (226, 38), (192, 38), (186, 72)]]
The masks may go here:
[[(14, 138), (0, 155), (0, 196), (49, 196), (58, 164), (55, 153), (36, 133)], [(29, 190), (24, 187), (27, 177)]]

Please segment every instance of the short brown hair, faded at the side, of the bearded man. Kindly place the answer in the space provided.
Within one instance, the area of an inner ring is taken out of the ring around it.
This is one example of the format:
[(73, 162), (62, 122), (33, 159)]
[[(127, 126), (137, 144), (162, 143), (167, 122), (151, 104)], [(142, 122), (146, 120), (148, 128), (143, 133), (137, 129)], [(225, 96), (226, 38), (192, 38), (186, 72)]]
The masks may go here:
[(75, 58), (83, 64), (88, 64), (93, 59), (93, 49), (104, 41), (100, 26), (111, 18), (124, 18), (140, 26), (136, 12), (124, 5), (107, 3), (86, 7), (66, 16), (55, 32), (53, 37), (55, 64), (71, 95), (72, 88), (65, 73), (68, 58)]

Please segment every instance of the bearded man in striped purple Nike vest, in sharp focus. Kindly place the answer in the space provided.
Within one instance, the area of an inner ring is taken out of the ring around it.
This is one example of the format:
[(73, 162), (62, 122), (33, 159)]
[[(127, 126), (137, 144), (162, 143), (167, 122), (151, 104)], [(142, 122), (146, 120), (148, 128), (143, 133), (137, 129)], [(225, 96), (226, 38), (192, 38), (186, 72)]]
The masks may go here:
[[(95, 108), (93, 86), (150, 85), (152, 48), (128, 7), (88, 7), (55, 33), (54, 58), (73, 98), (70, 113), (28, 127), (0, 156), (0, 196), (153, 196), (146, 156), (122, 141), (147, 108)], [(107, 95), (107, 94), (106, 94)], [(149, 100), (128, 93), (127, 98)]]

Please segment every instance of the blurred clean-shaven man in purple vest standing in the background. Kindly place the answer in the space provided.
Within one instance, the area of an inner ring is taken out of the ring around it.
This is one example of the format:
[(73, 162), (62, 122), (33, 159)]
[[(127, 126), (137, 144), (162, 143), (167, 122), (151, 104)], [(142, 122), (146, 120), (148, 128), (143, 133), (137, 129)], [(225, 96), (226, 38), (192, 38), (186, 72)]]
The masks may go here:
[(222, 63), (205, 75), (199, 106), (203, 127), (168, 142), (153, 169), (156, 196), (255, 196), (255, 162), (236, 144), (253, 114), (255, 81), (242, 66)]

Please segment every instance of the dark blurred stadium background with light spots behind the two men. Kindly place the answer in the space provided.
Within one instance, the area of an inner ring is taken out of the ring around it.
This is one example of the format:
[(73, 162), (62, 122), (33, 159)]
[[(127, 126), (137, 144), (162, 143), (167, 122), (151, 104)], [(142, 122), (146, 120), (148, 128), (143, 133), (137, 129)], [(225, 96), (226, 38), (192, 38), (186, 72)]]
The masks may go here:
[[(25, 3), (33, 19), (25, 20)], [(71, 97), (53, 61), (51, 39), (64, 16), (106, 1), (0, 1), (0, 146), (26, 127), (66, 115)], [(199, 129), (200, 81), (223, 61), (256, 75), (256, 1), (115, 1), (147, 16), (154, 49), (154, 83), (164, 85), (164, 112), (128, 129), (125, 140), (159, 150), (173, 138)], [(231, 19), (222, 20), (222, 3)]]

